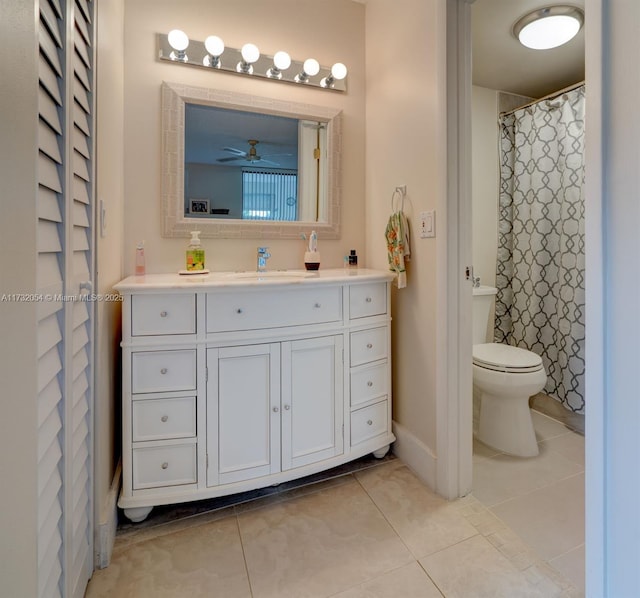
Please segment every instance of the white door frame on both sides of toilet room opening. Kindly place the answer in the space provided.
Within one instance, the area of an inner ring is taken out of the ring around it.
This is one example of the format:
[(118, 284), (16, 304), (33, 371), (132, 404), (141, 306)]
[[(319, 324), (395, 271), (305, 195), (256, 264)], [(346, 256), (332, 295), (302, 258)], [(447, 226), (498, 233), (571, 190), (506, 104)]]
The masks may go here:
[[(471, 293), (464, 272), (471, 265), (471, 4), (446, 2), (447, 190), (446, 235), (439, 251), (438, 304), (443, 310), (439, 332), (437, 490), (453, 499), (466, 495), (472, 483)], [(604, 22), (604, 0), (586, 0), (590, 23)], [(586, 386), (592, 389), (586, 412), (585, 534), (588, 596), (606, 595), (605, 374), (603, 284), (603, 41), (602, 27), (587, 27), (586, 88), (589, 130), (585, 137), (585, 237), (588, 285), (586, 297)], [(606, 60), (606, 57), (605, 57)], [(466, 329), (466, 330), (465, 330)]]

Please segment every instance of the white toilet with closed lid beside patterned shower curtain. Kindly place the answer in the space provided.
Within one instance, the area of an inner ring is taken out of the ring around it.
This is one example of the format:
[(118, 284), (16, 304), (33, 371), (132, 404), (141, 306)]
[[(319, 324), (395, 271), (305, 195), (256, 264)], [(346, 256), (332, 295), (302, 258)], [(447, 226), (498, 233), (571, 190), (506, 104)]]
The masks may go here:
[(473, 289), (473, 392), (480, 401), (476, 437), (503, 453), (535, 457), (529, 397), (544, 388), (547, 374), (539, 355), (486, 342), (496, 292), (488, 286)]

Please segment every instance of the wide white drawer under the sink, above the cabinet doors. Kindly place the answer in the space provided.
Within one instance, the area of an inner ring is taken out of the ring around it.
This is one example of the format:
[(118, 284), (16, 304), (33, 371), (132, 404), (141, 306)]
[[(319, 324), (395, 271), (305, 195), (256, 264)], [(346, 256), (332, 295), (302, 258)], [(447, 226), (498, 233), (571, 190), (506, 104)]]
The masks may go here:
[(209, 293), (207, 332), (302, 326), (342, 320), (339, 287)]

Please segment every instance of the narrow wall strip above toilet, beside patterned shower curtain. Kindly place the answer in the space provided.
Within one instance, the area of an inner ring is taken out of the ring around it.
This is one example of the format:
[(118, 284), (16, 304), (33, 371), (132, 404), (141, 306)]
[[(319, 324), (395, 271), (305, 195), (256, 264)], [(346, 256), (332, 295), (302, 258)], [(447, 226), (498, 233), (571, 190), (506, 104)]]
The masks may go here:
[(494, 286), (498, 253), (498, 92), (473, 87), (472, 209), (473, 269), (480, 283)]

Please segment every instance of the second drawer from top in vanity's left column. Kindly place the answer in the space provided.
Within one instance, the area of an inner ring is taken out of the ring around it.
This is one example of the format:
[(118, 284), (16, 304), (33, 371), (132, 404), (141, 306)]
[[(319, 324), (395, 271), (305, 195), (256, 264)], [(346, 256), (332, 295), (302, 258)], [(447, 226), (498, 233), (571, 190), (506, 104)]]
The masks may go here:
[(131, 354), (131, 392), (134, 394), (195, 388), (195, 349)]

